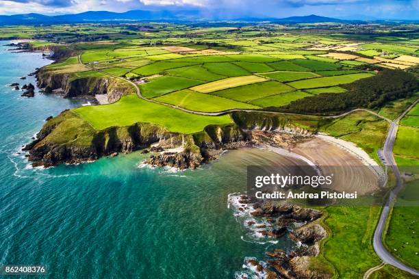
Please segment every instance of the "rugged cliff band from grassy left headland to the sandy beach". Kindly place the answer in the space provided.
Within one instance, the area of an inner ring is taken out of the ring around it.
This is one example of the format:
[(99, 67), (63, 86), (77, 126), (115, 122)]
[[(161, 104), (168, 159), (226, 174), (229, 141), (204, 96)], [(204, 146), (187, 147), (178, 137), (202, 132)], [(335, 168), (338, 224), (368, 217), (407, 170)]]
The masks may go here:
[(225, 149), (252, 143), (255, 130), (287, 131), (296, 136), (314, 132), (292, 124), (287, 118), (258, 112), (235, 112), (231, 114), (231, 124), (209, 125), (193, 134), (173, 133), (144, 122), (97, 131), (74, 111), (67, 110), (47, 120), (34, 142), (23, 149), (29, 151), (28, 159), (33, 165), (48, 167), (152, 147), (151, 151), (158, 153), (151, 155), (147, 163), (186, 169), (215, 159)]

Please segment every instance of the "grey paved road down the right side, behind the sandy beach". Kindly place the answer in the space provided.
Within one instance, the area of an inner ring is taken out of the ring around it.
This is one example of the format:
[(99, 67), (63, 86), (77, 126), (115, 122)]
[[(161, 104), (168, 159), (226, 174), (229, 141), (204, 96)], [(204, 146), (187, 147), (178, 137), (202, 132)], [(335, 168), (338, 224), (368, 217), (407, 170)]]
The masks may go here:
[(401, 120), (401, 118), (403, 118), (403, 116), (405, 116), (405, 114), (407, 114), (407, 112), (412, 107), (414, 107), (414, 105), (416, 105), (416, 103), (418, 103), (418, 101), (419, 100), (416, 100), (408, 109), (406, 109), (403, 112), (403, 114), (401, 114), (401, 116), (399, 116), (396, 120), (390, 122), (390, 129), (388, 130), (387, 137), (385, 138), (383, 150), (378, 150), (379, 158), (381, 159), (383, 165), (389, 165), (394, 172), (394, 176), (396, 176), (396, 187), (394, 187), (394, 189), (390, 192), (388, 200), (385, 201), (383, 211), (381, 211), (381, 216), (377, 224), (377, 228), (375, 229), (375, 232), (374, 232), (374, 239), (373, 239), (374, 250), (384, 263), (393, 265), (394, 267), (407, 271), (410, 274), (414, 274), (416, 276), (419, 276), (419, 271), (411, 267), (408, 267), (404, 263), (401, 263), (401, 261), (398, 261), (396, 258), (394, 258), (392, 254), (390, 254), (390, 252), (388, 252), (387, 249), (385, 249), (385, 246), (383, 245), (382, 237), (383, 237), (383, 232), (385, 229), (385, 223), (387, 222), (387, 219), (388, 219), (388, 213), (390, 212), (390, 209), (393, 206), (394, 199), (396, 198), (398, 192), (403, 187), (401, 173), (399, 172), (397, 168), (397, 164), (396, 164), (396, 161), (394, 161), (394, 156), (393, 156), (393, 146), (394, 146), (394, 141), (396, 140), (398, 122)]

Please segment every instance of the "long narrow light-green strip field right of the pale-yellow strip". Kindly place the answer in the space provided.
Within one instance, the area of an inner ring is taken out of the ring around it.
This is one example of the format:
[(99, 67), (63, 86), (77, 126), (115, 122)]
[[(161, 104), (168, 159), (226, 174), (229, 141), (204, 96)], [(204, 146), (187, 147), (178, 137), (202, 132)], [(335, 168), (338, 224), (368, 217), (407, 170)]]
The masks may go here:
[(372, 74), (361, 73), (361, 74), (351, 74), (351, 75), (340, 75), (334, 77), (317, 77), (314, 79), (306, 79), (302, 81), (292, 81), (288, 83), (294, 88), (305, 89), (305, 88), (322, 88), (335, 86), (345, 83), (352, 83), (358, 79), (365, 79), (366, 77), (372, 77)]

